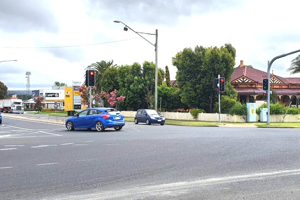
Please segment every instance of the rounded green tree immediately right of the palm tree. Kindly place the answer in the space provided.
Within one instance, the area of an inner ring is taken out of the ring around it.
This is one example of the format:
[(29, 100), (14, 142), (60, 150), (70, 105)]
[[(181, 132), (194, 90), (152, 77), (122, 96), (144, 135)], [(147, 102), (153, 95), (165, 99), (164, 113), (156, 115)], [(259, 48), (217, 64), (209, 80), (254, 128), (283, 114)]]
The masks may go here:
[(119, 90), (119, 82), (118, 82), (118, 68), (117, 67), (108, 67), (100, 80), (100, 84), (102, 87), (102, 91), (110, 92)]

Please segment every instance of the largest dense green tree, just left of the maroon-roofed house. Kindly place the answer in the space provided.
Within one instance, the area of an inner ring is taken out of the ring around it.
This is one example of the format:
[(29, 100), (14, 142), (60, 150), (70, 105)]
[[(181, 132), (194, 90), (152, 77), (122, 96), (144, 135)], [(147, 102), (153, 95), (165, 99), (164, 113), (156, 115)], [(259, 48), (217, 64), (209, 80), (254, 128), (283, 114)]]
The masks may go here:
[(217, 100), (212, 81), (218, 74), (230, 80), (234, 71), (235, 49), (231, 44), (220, 48), (185, 48), (172, 58), (172, 62), (178, 69), (176, 80), (182, 90), (182, 102), (191, 108), (212, 112)]

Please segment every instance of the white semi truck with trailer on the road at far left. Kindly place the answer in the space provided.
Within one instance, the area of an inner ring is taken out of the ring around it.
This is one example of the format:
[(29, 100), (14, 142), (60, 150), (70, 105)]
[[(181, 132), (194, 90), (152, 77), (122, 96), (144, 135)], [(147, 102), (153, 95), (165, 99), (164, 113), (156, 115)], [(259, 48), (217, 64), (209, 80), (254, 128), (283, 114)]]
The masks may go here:
[(24, 114), (22, 100), (16, 97), (11, 97), (11, 99), (0, 99), (0, 112)]

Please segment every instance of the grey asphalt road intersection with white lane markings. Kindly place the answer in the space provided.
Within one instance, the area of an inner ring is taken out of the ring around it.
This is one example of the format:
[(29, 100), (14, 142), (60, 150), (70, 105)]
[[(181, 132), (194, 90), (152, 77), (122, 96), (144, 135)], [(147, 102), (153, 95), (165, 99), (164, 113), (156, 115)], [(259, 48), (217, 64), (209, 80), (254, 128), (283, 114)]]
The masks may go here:
[(300, 130), (3, 118), (0, 199), (299, 199)]

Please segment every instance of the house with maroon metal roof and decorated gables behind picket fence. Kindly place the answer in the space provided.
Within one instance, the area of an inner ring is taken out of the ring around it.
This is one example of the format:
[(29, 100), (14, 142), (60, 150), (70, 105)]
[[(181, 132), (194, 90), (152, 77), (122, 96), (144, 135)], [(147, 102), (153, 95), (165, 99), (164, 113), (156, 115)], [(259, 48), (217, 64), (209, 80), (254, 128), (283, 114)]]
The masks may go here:
[[(238, 101), (254, 103), (263, 100), (262, 79), (267, 78), (267, 72), (247, 67), (240, 61), (231, 76), (231, 85), (238, 92)], [(298, 106), (300, 97), (300, 78), (283, 78), (270, 74), (270, 87), (277, 92), (277, 100), (281, 104)], [(299, 88), (299, 89), (298, 89)]]

